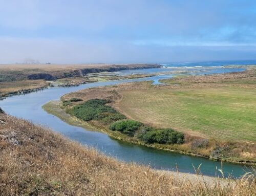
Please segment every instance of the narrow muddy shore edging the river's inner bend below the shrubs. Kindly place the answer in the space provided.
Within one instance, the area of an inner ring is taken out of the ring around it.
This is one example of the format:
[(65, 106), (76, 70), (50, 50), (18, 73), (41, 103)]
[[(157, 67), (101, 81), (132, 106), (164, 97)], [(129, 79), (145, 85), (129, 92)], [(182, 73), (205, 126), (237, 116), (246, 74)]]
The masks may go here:
[(127, 142), (127, 143), (132, 143), (132, 144), (137, 144), (137, 145), (141, 145), (141, 146), (151, 147), (151, 148), (164, 150), (164, 151), (170, 151), (170, 152), (173, 152), (173, 153), (179, 153), (179, 154), (188, 155), (188, 156), (201, 157), (201, 158), (205, 158), (205, 159), (212, 160), (212, 161), (225, 161), (225, 162), (229, 162), (229, 163), (233, 163), (233, 164), (239, 164), (239, 165), (256, 166), (255, 162), (252, 162), (252, 161), (249, 161), (249, 160), (248, 160), (248, 162), (239, 162), (239, 161), (236, 161), (236, 160), (233, 160), (233, 159), (228, 159), (228, 158), (212, 159), (209, 156), (203, 156), (203, 155), (199, 155), (199, 154), (196, 154), (196, 153), (190, 153), (190, 152), (182, 151), (182, 150), (178, 150), (178, 149), (164, 148), (164, 147), (160, 146), (161, 144), (158, 144), (158, 145), (156, 145), (156, 144), (146, 144), (142, 141), (138, 141), (136, 139), (131, 139), (130, 137), (127, 137), (127, 136), (125, 136), (121, 133), (114, 132), (114, 131), (111, 131), (111, 130), (107, 130), (107, 129), (102, 128), (102, 127), (98, 127), (93, 123), (82, 121), (81, 119), (78, 119), (77, 117), (74, 117), (74, 116), (71, 116), (70, 114), (67, 114), (65, 112), (65, 110), (63, 110), (60, 107), (60, 100), (50, 101), (50, 102), (44, 104), (42, 106), (42, 108), (47, 113), (58, 117), (59, 119), (61, 119), (62, 121), (65, 121), (68, 124), (75, 125), (75, 126), (80, 126), (82, 128), (92, 128), (93, 131), (107, 134), (111, 138), (119, 140), (119, 141), (124, 141), (124, 142)]

